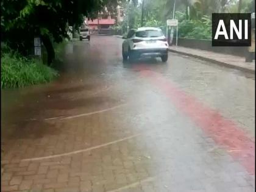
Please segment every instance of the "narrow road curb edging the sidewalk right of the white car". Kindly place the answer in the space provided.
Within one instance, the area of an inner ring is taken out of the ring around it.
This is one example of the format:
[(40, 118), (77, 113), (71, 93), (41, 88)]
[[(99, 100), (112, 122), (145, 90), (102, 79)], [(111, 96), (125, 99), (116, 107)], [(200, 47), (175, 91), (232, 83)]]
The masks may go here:
[(194, 57), (194, 58), (201, 59), (201, 60), (205, 60), (207, 62), (212, 62), (212, 63), (215, 63), (219, 66), (226, 66), (227, 68), (238, 69), (240, 71), (244, 71), (244, 72), (247, 72), (247, 73), (253, 73), (253, 74), (255, 73), (255, 70), (253, 70), (253, 69), (248, 69), (248, 68), (243, 68), (241, 66), (231, 65), (229, 63), (220, 62), (220, 61), (215, 60), (215, 59), (209, 59), (207, 57), (202, 57), (200, 55), (189, 54), (187, 52), (176, 51), (176, 50), (173, 50), (173, 49), (168, 49), (168, 51), (169, 52), (175, 52), (177, 54), (187, 55), (187, 56)]

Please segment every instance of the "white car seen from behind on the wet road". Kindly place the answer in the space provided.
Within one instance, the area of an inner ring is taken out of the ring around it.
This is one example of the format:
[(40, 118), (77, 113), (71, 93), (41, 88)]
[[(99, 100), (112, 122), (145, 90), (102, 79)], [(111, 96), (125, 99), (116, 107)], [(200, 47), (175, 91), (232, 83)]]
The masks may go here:
[(162, 62), (168, 60), (168, 43), (161, 29), (141, 27), (131, 29), (122, 45), (123, 60), (141, 57), (161, 57)]

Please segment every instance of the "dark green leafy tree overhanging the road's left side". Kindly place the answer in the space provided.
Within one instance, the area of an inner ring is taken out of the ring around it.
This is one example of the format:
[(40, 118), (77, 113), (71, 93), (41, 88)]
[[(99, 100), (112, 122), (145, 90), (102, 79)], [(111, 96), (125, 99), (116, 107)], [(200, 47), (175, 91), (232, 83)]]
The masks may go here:
[(12, 49), (29, 54), (35, 36), (40, 36), (48, 52), (48, 64), (55, 57), (52, 41), (68, 38), (67, 26), (78, 28), (84, 20), (96, 18), (108, 5), (118, 0), (3, 0), (1, 1), (1, 38)]

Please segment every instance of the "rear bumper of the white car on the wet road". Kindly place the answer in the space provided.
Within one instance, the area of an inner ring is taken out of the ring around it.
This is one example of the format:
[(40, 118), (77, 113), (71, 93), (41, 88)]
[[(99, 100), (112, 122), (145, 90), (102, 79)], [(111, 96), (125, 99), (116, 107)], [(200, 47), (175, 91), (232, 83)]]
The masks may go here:
[(162, 57), (168, 54), (168, 49), (132, 49), (130, 53), (133, 57)]

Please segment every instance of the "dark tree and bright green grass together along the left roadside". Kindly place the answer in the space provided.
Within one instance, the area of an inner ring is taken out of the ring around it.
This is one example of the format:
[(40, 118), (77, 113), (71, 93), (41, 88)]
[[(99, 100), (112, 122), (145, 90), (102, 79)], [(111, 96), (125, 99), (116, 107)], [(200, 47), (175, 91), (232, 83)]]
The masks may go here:
[[(125, 1), (125, 0), (123, 0)], [(34, 37), (43, 41), (43, 61), (48, 65), (59, 57), (59, 46), (69, 38), (84, 17), (96, 18), (104, 7), (111, 12), (118, 0), (3, 0), (1, 1), (1, 87), (24, 87), (48, 82), (57, 76), (54, 69), (37, 59), (28, 59), (34, 52)], [(133, 0), (136, 4), (137, 0)], [(8, 49), (6, 49), (8, 47)], [(13, 51), (14, 50), (14, 51)], [(58, 58), (59, 57), (59, 58)]]

